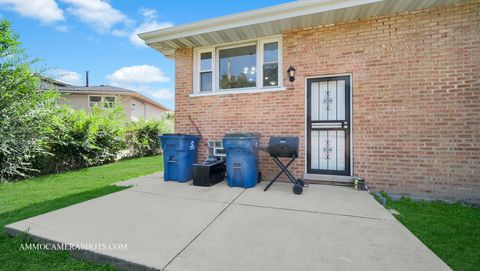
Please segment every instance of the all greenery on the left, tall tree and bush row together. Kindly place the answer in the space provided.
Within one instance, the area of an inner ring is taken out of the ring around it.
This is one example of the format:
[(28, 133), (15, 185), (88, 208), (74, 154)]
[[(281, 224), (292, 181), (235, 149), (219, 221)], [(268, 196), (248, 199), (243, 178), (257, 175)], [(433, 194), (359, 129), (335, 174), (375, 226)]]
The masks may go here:
[(128, 123), (122, 107), (75, 111), (57, 91), (40, 90), (10, 24), (0, 20), (0, 181), (101, 165), (160, 152), (173, 115)]

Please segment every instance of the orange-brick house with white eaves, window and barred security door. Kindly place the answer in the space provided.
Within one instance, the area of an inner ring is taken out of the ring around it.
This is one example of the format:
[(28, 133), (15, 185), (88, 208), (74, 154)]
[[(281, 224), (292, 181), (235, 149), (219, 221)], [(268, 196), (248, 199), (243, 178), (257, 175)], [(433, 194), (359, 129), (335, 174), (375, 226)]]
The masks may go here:
[(139, 36), (175, 59), (177, 133), (195, 133), (191, 116), (208, 139), (298, 136), (307, 181), (480, 203), (479, 14), (480, 1), (305, 0)]

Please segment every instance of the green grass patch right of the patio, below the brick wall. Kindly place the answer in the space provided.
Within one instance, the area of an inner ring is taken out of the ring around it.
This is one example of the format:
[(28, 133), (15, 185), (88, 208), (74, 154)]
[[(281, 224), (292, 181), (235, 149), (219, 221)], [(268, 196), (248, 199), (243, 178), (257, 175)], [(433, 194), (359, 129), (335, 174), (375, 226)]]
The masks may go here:
[(480, 270), (480, 208), (404, 198), (387, 207), (453, 270)]

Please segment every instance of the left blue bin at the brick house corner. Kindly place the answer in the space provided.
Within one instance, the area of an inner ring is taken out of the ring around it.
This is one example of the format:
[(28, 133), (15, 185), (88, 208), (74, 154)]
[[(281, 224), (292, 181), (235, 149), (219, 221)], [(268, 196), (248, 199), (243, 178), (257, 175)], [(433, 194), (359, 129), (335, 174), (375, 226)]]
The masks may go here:
[(164, 134), (160, 136), (165, 181), (188, 182), (192, 179), (199, 140), (200, 136), (197, 135)]

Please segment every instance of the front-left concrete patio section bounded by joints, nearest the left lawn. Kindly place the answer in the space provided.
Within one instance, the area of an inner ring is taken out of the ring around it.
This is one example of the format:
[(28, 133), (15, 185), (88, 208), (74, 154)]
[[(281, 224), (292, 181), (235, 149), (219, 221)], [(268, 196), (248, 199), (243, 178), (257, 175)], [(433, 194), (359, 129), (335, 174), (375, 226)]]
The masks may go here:
[[(7, 226), (62, 244), (127, 244), (125, 250), (93, 250), (113, 262), (162, 269), (198, 235), (226, 203), (121, 191)], [(121, 260), (121, 261), (119, 261)]]

